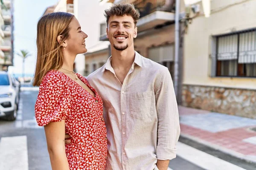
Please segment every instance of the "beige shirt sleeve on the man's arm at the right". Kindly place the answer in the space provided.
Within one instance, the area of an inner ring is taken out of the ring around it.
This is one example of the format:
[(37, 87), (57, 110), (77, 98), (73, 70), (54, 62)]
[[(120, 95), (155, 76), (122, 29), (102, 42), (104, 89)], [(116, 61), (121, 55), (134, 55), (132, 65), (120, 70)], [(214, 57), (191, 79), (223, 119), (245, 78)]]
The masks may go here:
[(156, 88), (157, 109), (157, 159), (171, 160), (176, 157), (176, 144), (180, 136), (179, 113), (172, 77), (167, 68)]

